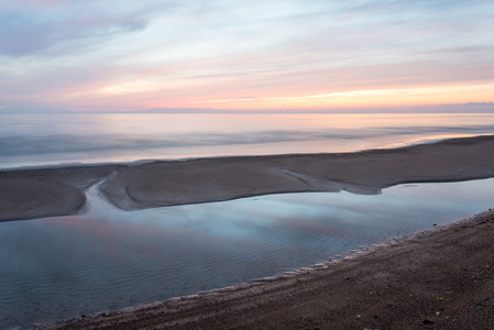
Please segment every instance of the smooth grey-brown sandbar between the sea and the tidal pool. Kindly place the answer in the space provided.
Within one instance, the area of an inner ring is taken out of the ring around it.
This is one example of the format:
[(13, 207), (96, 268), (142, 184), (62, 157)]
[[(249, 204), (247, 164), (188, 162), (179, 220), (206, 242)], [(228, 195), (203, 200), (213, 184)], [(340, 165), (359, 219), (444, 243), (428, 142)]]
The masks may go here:
[(65, 216), (101, 183), (124, 210), (248, 196), (340, 191), (378, 194), (404, 183), (494, 177), (494, 135), (358, 153), (237, 156), (144, 164), (0, 172), (0, 221)]

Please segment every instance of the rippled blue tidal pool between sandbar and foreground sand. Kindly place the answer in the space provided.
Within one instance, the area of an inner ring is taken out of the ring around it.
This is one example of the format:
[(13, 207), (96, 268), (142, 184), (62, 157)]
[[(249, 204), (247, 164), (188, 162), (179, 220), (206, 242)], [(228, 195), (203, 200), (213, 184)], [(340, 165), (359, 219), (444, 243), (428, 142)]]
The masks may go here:
[(494, 179), (284, 194), (0, 223), (0, 328), (195, 294), (334, 258), (492, 207)]

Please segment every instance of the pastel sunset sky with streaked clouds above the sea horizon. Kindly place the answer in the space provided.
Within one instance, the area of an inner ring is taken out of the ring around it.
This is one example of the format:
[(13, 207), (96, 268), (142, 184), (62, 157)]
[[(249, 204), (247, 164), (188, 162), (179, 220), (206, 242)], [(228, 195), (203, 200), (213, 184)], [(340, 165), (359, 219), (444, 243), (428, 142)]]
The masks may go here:
[(0, 112), (494, 112), (492, 31), (491, 0), (0, 0)]

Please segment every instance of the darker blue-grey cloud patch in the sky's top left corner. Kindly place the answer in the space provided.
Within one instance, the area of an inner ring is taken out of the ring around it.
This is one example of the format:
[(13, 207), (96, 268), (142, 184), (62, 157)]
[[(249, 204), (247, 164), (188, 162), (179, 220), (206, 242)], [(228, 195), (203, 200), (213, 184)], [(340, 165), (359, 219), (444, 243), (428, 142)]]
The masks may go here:
[(97, 44), (142, 30), (147, 23), (139, 11), (91, 11), (86, 8), (90, 1), (73, 3), (20, 1), (12, 8), (0, 7), (0, 55), (32, 55), (66, 42), (73, 43), (63, 52), (80, 52), (85, 43)]

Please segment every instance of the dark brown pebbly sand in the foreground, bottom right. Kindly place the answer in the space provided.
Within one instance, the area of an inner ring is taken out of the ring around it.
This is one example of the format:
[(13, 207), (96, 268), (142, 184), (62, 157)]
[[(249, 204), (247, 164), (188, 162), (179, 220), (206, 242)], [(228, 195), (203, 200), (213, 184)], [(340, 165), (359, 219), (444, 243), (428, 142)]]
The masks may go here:
[(494, 209), (320, 268), (36, 329), (490, 329)]

